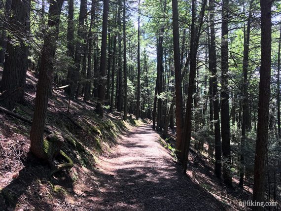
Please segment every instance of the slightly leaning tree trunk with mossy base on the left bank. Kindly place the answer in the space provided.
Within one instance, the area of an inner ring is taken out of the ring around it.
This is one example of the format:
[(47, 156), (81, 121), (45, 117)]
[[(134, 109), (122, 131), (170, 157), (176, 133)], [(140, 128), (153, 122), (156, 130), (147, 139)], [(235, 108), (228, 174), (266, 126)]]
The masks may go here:
[[(41, 66), (37, 84), (35, 111), (30, 131), (31, 151), (36, 157), (49, 160), (49, 152), (44, 145), (44, 127), (48, 108), (49, 90), (53, 83), (54, 59), (59, 34), (60, 13), (64, 0), (50, 0), (48, 34), (44, 38)], [(50, 161), (49, 161), (50, 162)]]

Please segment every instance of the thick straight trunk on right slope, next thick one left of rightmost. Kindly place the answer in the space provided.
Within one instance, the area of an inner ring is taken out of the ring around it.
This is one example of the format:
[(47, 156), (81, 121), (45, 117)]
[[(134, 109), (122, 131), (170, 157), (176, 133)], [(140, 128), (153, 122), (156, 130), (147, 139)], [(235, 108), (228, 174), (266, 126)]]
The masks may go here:
[(229, 90), (228, 90), (228, 0), (222, 0), (221, 20), (221, 142), (223, 155), (224, 183), (232, 186), (231, 177), (231, 151), (230, 151), (230, 125), (229, 125)]

